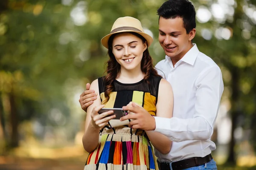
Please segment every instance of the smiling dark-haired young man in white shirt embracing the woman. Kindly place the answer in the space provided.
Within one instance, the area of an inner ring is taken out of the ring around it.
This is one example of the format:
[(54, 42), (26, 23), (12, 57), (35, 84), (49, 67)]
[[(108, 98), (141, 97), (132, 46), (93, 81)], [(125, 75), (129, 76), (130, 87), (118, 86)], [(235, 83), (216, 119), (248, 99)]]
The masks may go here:
[[(157, 13), (158, 40), (166, 57), (157, 63), (156, 68), (172, 85), (173, 117), (152, 117), (145, 109), (132, 103), (123, 109), (135, 114), (121, 120), (133, 119), (130, 122), (132, 128), (154, 130), (173, 141), (168, 154), (156, 151), (161, 170), (215, 170), (217, 166), (211, 151), (216, 146), (210, 138), (224, 88), (221, 70), (192, 44), (196, 33), (192, 3), (168, 0)], [(93, 95), (91, 91), (81, 94), (79, 102), (84, 110), (93, 102)]]

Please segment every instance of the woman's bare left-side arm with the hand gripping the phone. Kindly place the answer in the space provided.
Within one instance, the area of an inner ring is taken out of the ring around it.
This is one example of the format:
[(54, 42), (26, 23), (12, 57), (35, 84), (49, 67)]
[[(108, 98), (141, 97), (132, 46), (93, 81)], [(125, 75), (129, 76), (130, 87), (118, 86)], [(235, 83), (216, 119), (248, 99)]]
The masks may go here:
[(97, 99), (93, 102), (92, 105), (87, 108), (87, 115), (85, 120), (85, 131), (82, 138), (84, 150), (88, 153), (96, 149), (99, 143), (99, 130), (104, 127), (109, 120), (115, 118), (115, 115), (108, 116), (113, 113), (113, 111), (108, 111), (102, 114), (99, 114), (98, 111), (104, 107), (102, 105), (100, 96), (99, 96), (99, 85), (98, 79), (94, 80), (90, 86), (90, 90), (93, 89), (97, 93)]

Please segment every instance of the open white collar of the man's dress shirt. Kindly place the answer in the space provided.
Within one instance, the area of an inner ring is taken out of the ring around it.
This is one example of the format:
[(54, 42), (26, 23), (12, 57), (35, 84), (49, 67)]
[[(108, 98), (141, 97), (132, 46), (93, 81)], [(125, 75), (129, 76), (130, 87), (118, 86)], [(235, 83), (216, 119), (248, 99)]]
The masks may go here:
[[(198, 56), (199, 52), (200, 51), (198, 50), (196, 44), (193, 43), (193, 47), (180, 60), (190, 65), (194, 65), (195, 59)], [(172, 59), (166, 56), (165, 61), (172, 62)]]

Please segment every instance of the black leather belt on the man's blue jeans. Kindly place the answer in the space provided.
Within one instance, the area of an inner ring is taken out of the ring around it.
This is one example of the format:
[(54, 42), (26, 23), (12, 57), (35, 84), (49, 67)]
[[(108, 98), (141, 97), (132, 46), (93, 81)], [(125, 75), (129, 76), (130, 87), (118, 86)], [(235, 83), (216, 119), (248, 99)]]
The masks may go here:
[[(212, 155), (202, 157), (193, 157), (189, 159), (184, 159), (181, 161), (172, 162), (172, 170), (183, 170), (189, 167), (197, 167), (202, 164), (205, 164), (212, 160)], [(159, 162), (160, 170), (171, 170), (170, 163), (161, 163)]]

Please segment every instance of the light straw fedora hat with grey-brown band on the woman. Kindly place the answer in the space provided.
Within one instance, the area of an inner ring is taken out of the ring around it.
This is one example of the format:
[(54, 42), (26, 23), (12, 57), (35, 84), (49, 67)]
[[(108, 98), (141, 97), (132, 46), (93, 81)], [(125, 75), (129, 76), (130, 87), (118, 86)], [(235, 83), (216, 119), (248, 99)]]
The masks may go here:
[(101, 42), (105, 48), (108, 48), (109, 37), (113, 34), (120, 32), (136, 32), (142, 35), (148, 42), (148, 47), (153, 42), (153, 38), (146, 34), (141, 26), (141, 23), (138, 19), (134, 17), (120, 17), (114, 22), (110, 34), (102, 38)]

